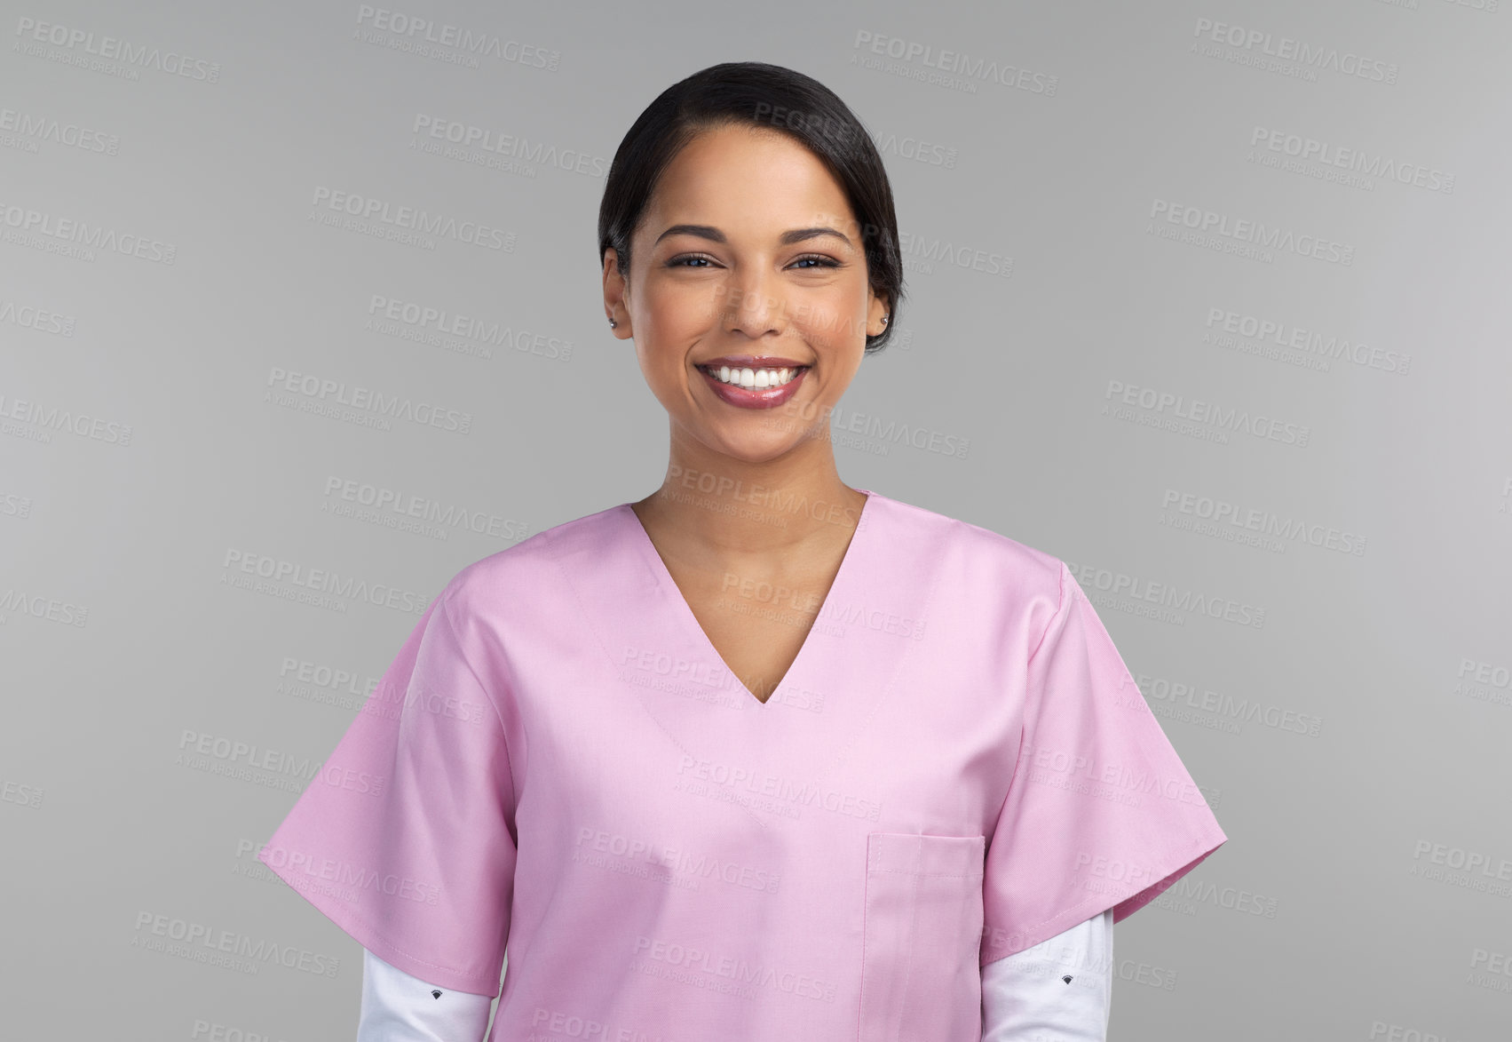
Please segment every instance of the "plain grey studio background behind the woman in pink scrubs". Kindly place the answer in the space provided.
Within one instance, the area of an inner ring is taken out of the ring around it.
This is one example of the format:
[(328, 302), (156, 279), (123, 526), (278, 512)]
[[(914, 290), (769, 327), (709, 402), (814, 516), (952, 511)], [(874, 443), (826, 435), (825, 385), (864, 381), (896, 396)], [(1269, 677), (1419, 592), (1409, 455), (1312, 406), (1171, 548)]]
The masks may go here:
[(1507, 3), (0, 6), (0, 1034), (352, 1036), (256, 851), (457, 570), (661, 481), (603, 175), (759, 59), (897, 192), (842, 476), (1064, 558), (1229, 835), (1110, 1037), (1507, 1037)]

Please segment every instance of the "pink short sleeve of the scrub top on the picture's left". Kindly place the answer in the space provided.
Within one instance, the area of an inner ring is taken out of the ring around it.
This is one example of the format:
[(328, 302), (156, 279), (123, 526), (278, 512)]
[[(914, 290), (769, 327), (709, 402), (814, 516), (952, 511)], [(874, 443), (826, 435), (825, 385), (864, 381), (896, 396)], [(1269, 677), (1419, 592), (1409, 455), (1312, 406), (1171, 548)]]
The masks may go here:
[(503, 724), (443, 591), (257, 856), (384, 962), (497, 995), (516, 842)]

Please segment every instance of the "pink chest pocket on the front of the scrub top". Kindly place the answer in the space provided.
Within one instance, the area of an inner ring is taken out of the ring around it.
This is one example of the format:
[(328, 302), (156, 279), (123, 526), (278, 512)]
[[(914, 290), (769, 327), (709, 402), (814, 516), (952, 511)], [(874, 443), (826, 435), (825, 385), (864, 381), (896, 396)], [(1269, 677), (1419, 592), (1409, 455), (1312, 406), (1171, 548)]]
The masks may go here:
[(980, 1042), (986, 842), (868, 833), (859, 1042)]

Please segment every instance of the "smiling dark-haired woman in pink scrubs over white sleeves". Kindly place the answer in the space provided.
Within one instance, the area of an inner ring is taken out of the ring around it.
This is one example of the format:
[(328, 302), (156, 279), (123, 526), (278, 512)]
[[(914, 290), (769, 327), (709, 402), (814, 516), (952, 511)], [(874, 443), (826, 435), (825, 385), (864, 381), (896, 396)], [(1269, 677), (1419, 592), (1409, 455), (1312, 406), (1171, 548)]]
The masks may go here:
[(667, 478), (454, 576), (260, 854), (360, 1037), (1102, 1039), (1114, 918), (1226, 836), (1060, 560), (841, 481), (903, 296), (863, 127), (703, 70), (599, 239)]

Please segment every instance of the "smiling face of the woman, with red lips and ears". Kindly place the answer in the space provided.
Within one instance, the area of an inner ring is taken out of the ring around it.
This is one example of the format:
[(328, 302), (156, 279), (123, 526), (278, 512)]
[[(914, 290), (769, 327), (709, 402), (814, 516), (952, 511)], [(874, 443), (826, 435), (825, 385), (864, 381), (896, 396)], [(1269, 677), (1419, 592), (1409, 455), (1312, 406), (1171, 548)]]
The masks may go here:
[(820, 433), (900, 293), (869, 278), (868, 236), (830, 168), (786, 133), (714, 124), (664, 166), (634, 234), (615, 234), (612, 212), (600, 221), (621, 243), (603, 253), (615, 336), (635, 340), (674, 431), (751, 463), (820, 463)]

